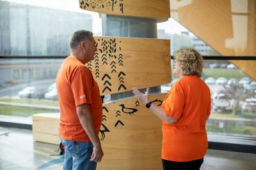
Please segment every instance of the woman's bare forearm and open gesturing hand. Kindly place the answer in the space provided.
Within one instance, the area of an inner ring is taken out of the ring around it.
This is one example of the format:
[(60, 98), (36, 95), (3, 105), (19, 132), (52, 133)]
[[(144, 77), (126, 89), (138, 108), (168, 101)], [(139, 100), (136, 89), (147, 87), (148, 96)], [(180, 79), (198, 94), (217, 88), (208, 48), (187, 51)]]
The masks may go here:
[[(147, 92), (145, 92), (145, 94), (141, 93), (135, 87), (132, 89), (132, 92), (135, 95), (135, 97), (137, 99), (139, 99), (140, 101), (142, 101), (145, 105), (150, 102), (149, 99), (148, 99), (148, 94), (149, 94), (149, 89), (148, 88), (147, 88)], [(168, 117), (165, 114), (163, 108), (160, 108), (160, 107), (156, 106), (156, 104), (154, 104), (154, 103), (151, 104), (149, 110), (152, 111), (157, 117), (159, 117), (161, 120), (163, 120), (167, 124), (173, 124), (178, 120), (177, 118)]]

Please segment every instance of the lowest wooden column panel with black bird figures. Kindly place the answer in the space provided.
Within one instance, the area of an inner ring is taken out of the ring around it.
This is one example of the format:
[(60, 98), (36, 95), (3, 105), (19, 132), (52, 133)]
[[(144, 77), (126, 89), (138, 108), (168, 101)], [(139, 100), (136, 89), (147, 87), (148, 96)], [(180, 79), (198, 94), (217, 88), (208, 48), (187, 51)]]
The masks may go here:
[[(160, 105), (166, 94), (150, 95)], [(161, 120), (135, 97), (104, 104), (97, 169), (161, 169)]]

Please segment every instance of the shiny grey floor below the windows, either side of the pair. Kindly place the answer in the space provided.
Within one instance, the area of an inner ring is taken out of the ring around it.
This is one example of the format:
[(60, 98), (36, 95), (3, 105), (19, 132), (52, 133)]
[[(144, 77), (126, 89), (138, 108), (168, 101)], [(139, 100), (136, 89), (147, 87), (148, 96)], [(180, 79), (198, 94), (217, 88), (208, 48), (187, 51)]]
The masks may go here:
[[(32, 131), (0, 127), (0, 169), (63, 169), (57, 145), (33, 141)], [(160, 159), (160, 158), (159, 158)], [(255, 170), (256, 154), (208, 150), (202, 170)]]

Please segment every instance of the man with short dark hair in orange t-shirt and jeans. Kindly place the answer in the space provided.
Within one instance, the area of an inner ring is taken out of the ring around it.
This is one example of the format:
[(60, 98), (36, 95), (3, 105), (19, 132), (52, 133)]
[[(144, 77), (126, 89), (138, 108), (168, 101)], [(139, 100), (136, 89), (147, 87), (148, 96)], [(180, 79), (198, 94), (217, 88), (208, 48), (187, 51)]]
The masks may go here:
[(84, 65), (97, 51), (90, 31), (74, 32), (71, 54), (57, 78), (60, 103), (60, 138), (65, 145), (64, 170), (96, 169), (103, 156), (99, 140), (102, 99), (91, 71)]

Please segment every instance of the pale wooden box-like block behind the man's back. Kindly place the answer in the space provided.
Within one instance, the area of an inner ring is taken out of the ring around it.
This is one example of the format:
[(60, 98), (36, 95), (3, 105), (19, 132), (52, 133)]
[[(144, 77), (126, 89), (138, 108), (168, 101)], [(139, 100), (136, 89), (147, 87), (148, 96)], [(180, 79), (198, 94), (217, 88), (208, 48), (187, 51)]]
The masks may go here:
[(33, 115), (33, 139), (45, 143), (60, 144), (60, 113), (38, 113)]

